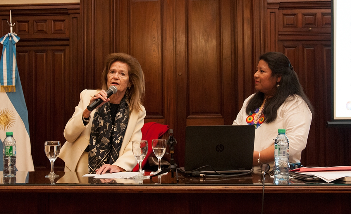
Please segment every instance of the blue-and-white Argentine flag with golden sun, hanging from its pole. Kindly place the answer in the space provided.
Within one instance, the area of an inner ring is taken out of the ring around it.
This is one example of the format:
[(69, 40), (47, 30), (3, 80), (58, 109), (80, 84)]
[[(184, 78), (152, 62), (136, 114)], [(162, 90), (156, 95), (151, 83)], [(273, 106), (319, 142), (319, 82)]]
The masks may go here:
[[(0, 60), (0, 148), (6, 132), (13, 132), (16, 140), (18, 171), (34, 171), (29, 138), (28, 111), (16, 63), (16, 42), (20, 38), (8, 33), (0, 38), (3, 45)], [(0, 158), (0, 170), (4, 168)]]

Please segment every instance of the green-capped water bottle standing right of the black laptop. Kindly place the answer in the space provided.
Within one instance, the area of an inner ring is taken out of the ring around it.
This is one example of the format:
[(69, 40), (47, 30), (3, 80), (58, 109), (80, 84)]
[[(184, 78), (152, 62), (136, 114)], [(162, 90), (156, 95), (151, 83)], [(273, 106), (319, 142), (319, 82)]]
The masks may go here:
[(278, 136), (274, 141), (274, 183), (288, 183), (289, 170), (289, 140), (285, 129), (278, 129)]

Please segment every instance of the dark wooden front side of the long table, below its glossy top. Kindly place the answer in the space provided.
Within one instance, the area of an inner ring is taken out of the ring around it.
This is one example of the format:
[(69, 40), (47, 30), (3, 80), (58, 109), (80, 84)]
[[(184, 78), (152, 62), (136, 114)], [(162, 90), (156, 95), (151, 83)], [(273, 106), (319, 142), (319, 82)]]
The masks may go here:
[[(22, 185), (14, 185), (13, 188), (20, 188), (21, 186)], [(77, 186), (82, 187), (78, 190), (72, 190), (72, 187), (74, 188)], [(94, 186), (94, 189), (90, 188), (90, 186)], [(161, 189), (159, 185), (51, 185), (52, 190), (41, 190), (41, 192), (32, 187), (31, 189), (34, 189), (34, 192), (30, 190), (27, 192), (24, 190), (8, 190), (5, 192), (5, 190), (2, 190), (1, 192), (3, 193), (0, 199), (4, 204), (16, 203), (17, 206), (14, 206), (12, 209), (13, 213), (22, 213), (23, 210), (26, 210), (27, 214), (77, 213), (77, 210), (81, 213), (144, 213), (145, 207), (157, 207), (159, 206), (159, 201), (168, 202), (166, 213), (232, 213), (233, 210), (235, 210), (235, 213), (261, 212), (261, 201), (257, 200), (261, 196), (261, 193), (259, 193), (261, 189), (259, 189), (258, 185), (162, 186), (169, 188)], [(351, 195), (347, 185), (343, 185), (342, 187), (338, 185), (337, 187), (339, 188), (334, 187), (336, 190), (329, 188), (333, 185), (323, 185), (322, 187), (320, 187), (320, 185), (309, 185), (310, 188), (305, 186), (277, 190), (278, 186), (267, 185), (268, 193), (265, 193), (266, 203), (264, 212), (271, 214), (280, 214), (282, 210), (289, 210), (291, 213), (300, 213), (301, 210), (304, 210), (305, 213), (349, 212), (351, 208)], [(35, 187), (41, 188), (42, 186), (37, 185)], [(270, 190), (270, 187), (273, 190)], [(203, 190), (201, 188), (211, 190)], [(59, 191), (54, 189), (63, 190)], [(318, 191), (316, 189), (322, 190)], [(90, 196), (92, 194), (94, 194), (94, 198)], [(116, 203), (116, 195), (120, 198), (118, 205), (124, 205), (120, 206), (117, 212), (114, 206), (87, 206), (94, 203)], [(298, 196), (295, 201), (300, 204), (299, 207), (291, 207), (284, 204), (281, 209), (276, 208), (275, 202), (277, 200), (288, 198), (291, 195)], [(141, 200), (138, 206), (135, 206), (132, 202), (135, 198), (152, 198), (153, 200)], [(316, 198), (318, 198), (318, 200), (315, 200)], [(56, 201), (61, 201), (64, 206), (57, 206), (57, 203), (55, 203)]]

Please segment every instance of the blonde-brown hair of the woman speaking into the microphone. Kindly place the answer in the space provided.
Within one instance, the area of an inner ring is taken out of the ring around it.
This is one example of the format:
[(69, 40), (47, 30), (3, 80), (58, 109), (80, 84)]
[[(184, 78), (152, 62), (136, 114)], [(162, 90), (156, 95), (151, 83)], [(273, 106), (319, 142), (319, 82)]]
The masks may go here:
[(106, 56), (104, 71), (101, 74), (102, 89), (107, 88), (107, 74), (114, 62), (124, 62), (128, 65), (128, 76), (131, 82), (130, 88), (127, 88), (126, 95), (129, 100), (131, 111), (141, 111), (141, 104), (145, 95), (145, 78), (140, 63), (133, 56), (126, 53), (111, 53)]

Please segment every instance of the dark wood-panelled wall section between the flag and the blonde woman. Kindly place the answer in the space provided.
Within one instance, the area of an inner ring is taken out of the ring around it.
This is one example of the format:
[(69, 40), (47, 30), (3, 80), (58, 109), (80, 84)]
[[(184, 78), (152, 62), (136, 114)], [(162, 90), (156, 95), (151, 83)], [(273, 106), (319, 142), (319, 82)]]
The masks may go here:
[[(28, 109), (35, 169), (48, 169), (44, 141), (65, 142), (63, 128), (82, 90), (79, 5), (1, 6), (1, 34), (9, 32), (12, 10), (17, 64)], [(57, 160), (58, 166), (63, 166)]]

